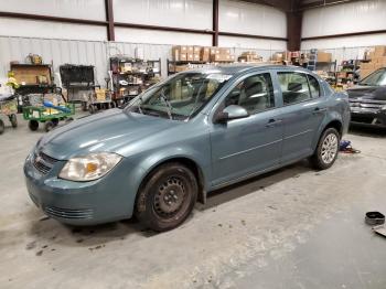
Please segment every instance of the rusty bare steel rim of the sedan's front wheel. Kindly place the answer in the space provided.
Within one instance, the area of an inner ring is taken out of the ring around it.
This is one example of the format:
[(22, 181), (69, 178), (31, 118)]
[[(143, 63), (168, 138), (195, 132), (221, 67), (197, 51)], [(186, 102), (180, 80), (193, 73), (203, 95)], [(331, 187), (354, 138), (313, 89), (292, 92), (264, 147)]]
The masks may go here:
[(154, 208), (161, 216), (176, 213), (183, 204), (185, 188), (178, 178), (169, 178), (163, 182), (156, 194)]

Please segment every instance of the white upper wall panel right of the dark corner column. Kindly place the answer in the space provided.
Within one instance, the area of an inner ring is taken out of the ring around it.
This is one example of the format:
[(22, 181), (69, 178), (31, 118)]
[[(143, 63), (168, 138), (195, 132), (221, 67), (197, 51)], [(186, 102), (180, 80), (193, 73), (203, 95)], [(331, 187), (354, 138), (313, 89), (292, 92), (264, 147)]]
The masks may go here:
[[(386, 1), (368, 0), (304, 11), (302, 38), (386, 29)], [(366, 45), (360, 39), (356, 45)], [(342, 45), (341, 45), (342, 46)]]

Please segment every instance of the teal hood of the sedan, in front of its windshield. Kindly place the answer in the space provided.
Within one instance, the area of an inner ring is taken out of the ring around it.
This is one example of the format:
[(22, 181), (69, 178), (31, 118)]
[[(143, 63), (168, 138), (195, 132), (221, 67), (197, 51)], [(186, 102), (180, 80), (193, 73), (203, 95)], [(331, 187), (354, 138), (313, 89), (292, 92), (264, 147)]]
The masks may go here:
[(57, 160), (93, 152), (117, 152), (147, 136), (154, 136), (181, 121), (110, 109), (58, 127), (44, 136), (37, 144)]

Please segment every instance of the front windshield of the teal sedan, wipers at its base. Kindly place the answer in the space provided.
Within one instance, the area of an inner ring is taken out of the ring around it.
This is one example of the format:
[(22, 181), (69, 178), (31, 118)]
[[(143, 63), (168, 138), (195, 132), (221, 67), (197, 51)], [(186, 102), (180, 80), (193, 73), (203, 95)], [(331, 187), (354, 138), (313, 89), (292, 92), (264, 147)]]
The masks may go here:
[(197, 114), (230, 77), (218, 72), (178, 74), (136, 97), (126, 109), (185, 120)]

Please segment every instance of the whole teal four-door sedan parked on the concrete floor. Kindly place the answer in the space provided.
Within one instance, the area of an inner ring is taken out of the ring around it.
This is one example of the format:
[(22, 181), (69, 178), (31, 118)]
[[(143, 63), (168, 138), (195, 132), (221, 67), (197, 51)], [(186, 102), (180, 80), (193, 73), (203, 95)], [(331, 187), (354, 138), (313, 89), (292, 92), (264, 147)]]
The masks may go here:
[(136, 215), (167, 231), (216, 189), (304, 158), (330, 168), (349, 122), (347, 95), (303, 68), (187, 71), (45, 135), (25, 160), (26, 188), (63, 223)]

